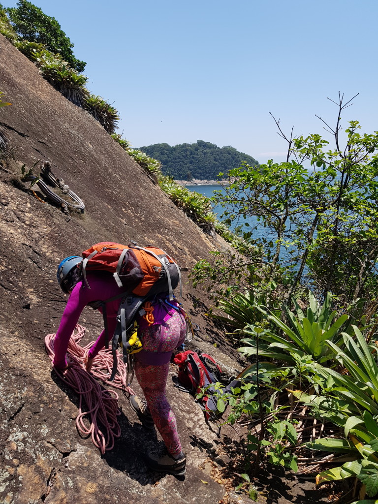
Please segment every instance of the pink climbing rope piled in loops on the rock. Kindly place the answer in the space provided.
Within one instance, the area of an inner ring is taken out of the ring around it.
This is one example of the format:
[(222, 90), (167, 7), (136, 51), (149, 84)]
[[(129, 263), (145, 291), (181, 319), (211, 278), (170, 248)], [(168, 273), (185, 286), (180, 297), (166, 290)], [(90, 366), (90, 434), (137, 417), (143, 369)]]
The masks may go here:
[[(118, 394), (114, 391), (101, 387), (101, 380), (105, 384), (121, 389), (124, 394), (133, 395), (133, 390), (127, 385), (127, 372), (123, 359), (117, 352), (118, 367), (113, 382), (108, 379), (111, 374), (113, 358), (110, 350), (100, 350), (93, 360), (91, 374), (84, 366), (84, 358), (94, 342), (85, 347), (79, 345), (84, 336), (85, 328), (79, 324), (71, 335), (68, 355), (73, 363), (71, 367), (62, 371), (54, 367), (55, 372), (64, 380), (77, 394), (79, 394), (79, 414), (76, 417), (76, 426), (84, 437), (91, 436), (92, 442), (102, 454), (114, 447), (114, 438), (120, 436), (120, 427), (117, 421)], [(54, 360), (54, 339), (55, 334), (48, 334), (45, 337), (47, 355), (51, 363)], [(85, 401), (88, 411), (82, 411), (82, 401)], [(85, 424), (85, 417), (89, 418), (90, 426)], [(104, 427), (104, 432), (98, 427), (98, 422)]]

